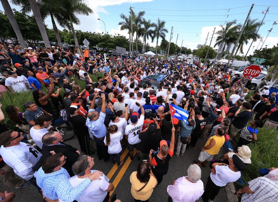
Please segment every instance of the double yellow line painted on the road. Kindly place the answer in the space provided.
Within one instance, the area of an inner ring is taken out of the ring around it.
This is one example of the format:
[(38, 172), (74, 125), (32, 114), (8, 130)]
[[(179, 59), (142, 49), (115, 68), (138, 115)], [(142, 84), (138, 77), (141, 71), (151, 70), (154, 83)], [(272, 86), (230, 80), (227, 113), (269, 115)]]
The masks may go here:
[[(129, 153), (128, 149), (126, 148), (124, 150), (124, 152), (121, 155), (120, 161), (123, 161), (123, 159), (126, 158), (126, 155)], [(133, 156), (136, 154), (136, 149), (134, 148), (133, 150)], [(126, 160), (126, 162), (123, 164), (121, 170), (119, 171), (118, 175), (115, 177), (114, 181), (112, 182), (112, 184), (114, 185), (114, 190), (117, 188), (120, 180), (123, 177), (123, 174), (126, 172), (129, 164), (131, 163), (130, 157), (128, 157), (128, 159)], [(111, 179), (113, 177), (113, 175), (115, 174), (115, 172), (118, 169), (118, 165), (115, 164), (111, 170), (109, 171), (109, 173), (106, 175), (106, 177), (108, 177), (108, 179)], [(112, 192), (110, 192), (110, 196), (113, 194), (114, 190)]]

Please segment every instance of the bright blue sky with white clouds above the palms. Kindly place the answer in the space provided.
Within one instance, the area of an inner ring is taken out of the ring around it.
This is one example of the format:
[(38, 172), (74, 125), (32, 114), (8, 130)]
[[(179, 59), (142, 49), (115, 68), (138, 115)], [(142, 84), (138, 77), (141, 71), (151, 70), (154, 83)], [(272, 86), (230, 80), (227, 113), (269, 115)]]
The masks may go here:
[[(128, 15), (129, 8), (134, 7), (135, 13), (140, 10), (145, 10), (146, 19), (151, 19), (152, 22), (156, 22), (159, 17), (161, 20), (166, 21), (166, 28), (169, 32), (166, 35), (166, 39), (169, 41), (171, 27), (173, 26), (173, 38), (172, 42), (176, 42), (177, 34), (178, 40), (177, 45), (181, 46), (183, 40), (183, 46), (195, 49), (198, 44), (204, 44), (206, 36), (209, 32), (208, 42), (212, 35), (214, 27), (216, 31), (219, 30), (219, 25), (225, 24), (226, 21), (234, 19), (239, 20), (238, 23), (244, 23), (246, 16), (250, 10), (252, 3), (255, 4), (250, 17), (252, 19), (261, 20), (264, 17), (262, 13), (270, 5), (269, 13), (266, 14), (265, 24), (261, 26), (259, 34), (262, 37), (266, 37), (268, 30), (272, 27), (272, 23), (278, 20), (278, 2), (275, 0), (268, 1), (165, 1), (165, 0), (85, 0), (90, 8), (94, 11), (94, 14), (90, 16), (79, 16), (81, 25), (75, 25), (75, 29), (82, 31), (91, 32), (104, 32), (104, 25), (102, 21), (98, 21), (99, 17), (106, 24), (106, 30), (109, 34), (119, 33), (128, 37), (127, 31), (120, 31), (118, 22), (121, 21), (119, 15), (124, 13)], [(265, 5), (265, 6), (258, 6)], [(11, 5), (12, 8), (18, 7)], [(245, 6), (245, 7), (244, 7)], [(237, 8), (243, 7), (243, 8)], [(229, 8), (234, 8), (230, 9)], [(157, 9), (157, 10), (149, 10)], [(166, 10), (167, 9), (167, 10)], [(214, 10), (213, 10), (214, 9)], [(215, 10), (223, 9), (223, 10)], [(0, 5), (0, 10), (3, 10)], [(184, 11), (188, 10), (188, 11)], [(195, 11), (194, 11), (195, 10)], [(190, 21), (190, 22), (186, 22)], [(192, 21), (203, 21), (203, 22), (192, 22)], [(210, 22), (204, 22), (210, 21)], [(52, 27), (50, 18), (46, 19), (45, 22), (48, 27)], [(59, 27), (58, 27), (59, 28)], [(216, 35), (212, 39), (212, 46), (215, 44)], [(263, 38), (264, 40), (265, 38)], [(151, 40), (148, 40), (151, 43)], [(156, 41), (155, 41), (156, 42)], [(151, 43), (152, 45), (155, 45)], [(264, 44), (268, 47), (278, 43), (278, 25), (275, 25), (272, 32), (269, 34)], [(160, 40), (159, 40), (160, 44)], [(253, 43), (256, 49), (258, 42)], [(247, 51), (249, 45), (244, 46), (244, 52)], [(259, 48), (261, 45), (259, 45)], [(252, 47), (251, 47), (252, 49)]]

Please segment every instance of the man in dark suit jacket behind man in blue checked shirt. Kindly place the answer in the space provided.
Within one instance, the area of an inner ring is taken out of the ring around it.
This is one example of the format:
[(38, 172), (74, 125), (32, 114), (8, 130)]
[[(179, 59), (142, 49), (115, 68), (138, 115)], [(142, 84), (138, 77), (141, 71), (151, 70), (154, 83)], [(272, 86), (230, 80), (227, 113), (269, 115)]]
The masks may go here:
[(51, 155), (50, 151), (54, 151), (55, 153), (62, 153), (66, 158), (66, 163), (63, 166), (70, 176), (74, 176), (72, 172), (72, 164), (78, 159), (80, 152), (65, 143), (61, 141), (62, 139), (62, 134), (57, 132), (57, 131), (49, 131), (42, 137), (42, 157), (39, 160), (39, 162), (33, 167), (33, 170), (38, 170), (42, 162)]

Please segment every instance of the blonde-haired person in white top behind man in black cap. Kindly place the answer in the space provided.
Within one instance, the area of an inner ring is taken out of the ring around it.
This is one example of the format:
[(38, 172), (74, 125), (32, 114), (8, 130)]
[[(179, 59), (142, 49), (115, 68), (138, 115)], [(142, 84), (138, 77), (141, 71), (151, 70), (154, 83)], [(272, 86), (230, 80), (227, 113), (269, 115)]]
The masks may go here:
[[(223, 159), (226, 159), (228, 162), (229, 158), (232, 158), (233, 155), (237, 155), (239, 159), (244, 162), (246, 165), (251, 164), (251, 149), (247, 145), (242, 145), (241, 147), (237, 148), (237, 153), (235, 152), (228, 152), (223, 156)], [(227, 163), (224, 160), (224, 163)], [(229, 163), (228, 163), (229, 164)]]

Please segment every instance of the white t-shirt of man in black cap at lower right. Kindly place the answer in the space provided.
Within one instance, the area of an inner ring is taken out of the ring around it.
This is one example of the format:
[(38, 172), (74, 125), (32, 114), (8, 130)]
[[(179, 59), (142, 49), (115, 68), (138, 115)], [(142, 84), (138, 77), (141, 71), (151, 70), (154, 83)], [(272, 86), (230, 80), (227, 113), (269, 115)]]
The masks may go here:
[(240, 178), (240, 171), (234, 172), (228, 166), (216, 166), (216, 174), (210, 173), (210, 179), (217, 186), (224, 187), (227, 183), (235, 182)]

